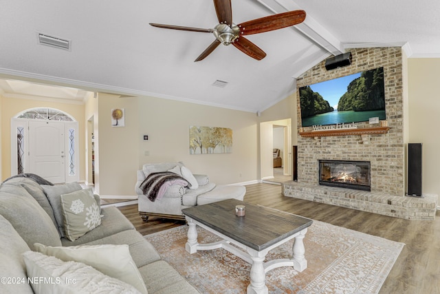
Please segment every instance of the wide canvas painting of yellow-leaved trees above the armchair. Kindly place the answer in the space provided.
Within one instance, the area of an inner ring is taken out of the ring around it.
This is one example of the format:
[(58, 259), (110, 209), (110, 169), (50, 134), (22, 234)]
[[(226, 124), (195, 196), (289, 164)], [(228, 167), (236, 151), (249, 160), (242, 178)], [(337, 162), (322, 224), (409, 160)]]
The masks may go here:
[(232, 153), (232, 129), (190, 126), (190, 154)]

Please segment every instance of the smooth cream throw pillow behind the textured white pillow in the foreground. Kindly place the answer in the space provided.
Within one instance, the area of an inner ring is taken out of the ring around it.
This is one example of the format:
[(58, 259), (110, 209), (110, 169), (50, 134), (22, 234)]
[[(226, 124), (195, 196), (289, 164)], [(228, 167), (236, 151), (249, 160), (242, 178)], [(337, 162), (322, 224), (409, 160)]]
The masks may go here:
[(82, 262), (93, 266), (105, 275), (131, 284), (141, 293), (148, 293), (142, 275), (131, 258), (129, 245), (45, 246), (35, 243), (34, 249), (64, 262)]

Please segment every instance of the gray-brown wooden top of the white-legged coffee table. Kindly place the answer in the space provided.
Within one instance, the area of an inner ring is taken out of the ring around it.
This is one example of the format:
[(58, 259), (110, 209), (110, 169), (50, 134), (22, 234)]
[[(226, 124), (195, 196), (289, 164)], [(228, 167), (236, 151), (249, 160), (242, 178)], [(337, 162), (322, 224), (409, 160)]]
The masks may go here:
[[(235, 215), (236, 205), (245, 205), (245, 216)], [(309, 218), (235, 199), (189, 207), (182, 212), (256, 251), (266, 249), (313, 223)]]

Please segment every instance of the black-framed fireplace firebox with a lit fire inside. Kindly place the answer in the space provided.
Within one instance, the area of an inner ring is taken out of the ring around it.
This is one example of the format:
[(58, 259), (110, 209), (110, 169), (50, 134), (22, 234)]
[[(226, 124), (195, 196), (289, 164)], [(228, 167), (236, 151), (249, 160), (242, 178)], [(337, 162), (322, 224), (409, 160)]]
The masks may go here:
[(318, 160), (319, 185), (371, 191), (370, 162)]

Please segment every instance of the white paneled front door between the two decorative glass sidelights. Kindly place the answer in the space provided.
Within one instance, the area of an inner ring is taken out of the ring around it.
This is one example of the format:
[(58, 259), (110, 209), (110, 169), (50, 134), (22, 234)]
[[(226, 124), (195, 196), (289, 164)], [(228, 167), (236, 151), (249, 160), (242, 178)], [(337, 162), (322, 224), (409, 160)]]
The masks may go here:
[(52, 120), (29, 123), (29, 172), (53, 183), (65, 182), (64, 124)]

